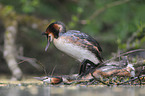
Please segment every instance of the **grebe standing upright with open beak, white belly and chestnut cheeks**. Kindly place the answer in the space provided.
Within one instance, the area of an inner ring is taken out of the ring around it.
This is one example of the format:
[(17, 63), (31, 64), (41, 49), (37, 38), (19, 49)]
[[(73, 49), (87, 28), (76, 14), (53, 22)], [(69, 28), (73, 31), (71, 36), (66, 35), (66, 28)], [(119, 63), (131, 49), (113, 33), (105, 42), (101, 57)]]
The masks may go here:
[(51, 23), (42, 35), (46, 35), (48, 40), (45, 51), (53, 41), (56, 48), (82, 62), (79, 75), (83, 73), (86, 63), (98, 66), (103, 62), (102, 49), (94, 38), (77, 30), (66, 31), (60, 21)]

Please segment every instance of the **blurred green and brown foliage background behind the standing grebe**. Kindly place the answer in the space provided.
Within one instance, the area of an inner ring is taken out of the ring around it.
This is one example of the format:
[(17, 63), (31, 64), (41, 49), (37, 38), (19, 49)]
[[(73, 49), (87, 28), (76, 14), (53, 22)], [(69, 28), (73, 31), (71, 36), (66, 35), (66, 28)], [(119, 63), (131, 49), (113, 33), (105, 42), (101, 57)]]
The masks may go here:
[(49, 74), (78, 72), (80, 63), (53, 44), (44, 51), (41, 32), (53, 21), (94, 37), (105, 60), (118, 51), (145, 48), (145, 0), (0, 0), (0, 74), (11, 74), (3, 58), (5, 23), (11, 20), (18, 22), (17, 48), (40, 65), (37, 69), (18, 60), (24, 75), (45, 75), (44, 68)]

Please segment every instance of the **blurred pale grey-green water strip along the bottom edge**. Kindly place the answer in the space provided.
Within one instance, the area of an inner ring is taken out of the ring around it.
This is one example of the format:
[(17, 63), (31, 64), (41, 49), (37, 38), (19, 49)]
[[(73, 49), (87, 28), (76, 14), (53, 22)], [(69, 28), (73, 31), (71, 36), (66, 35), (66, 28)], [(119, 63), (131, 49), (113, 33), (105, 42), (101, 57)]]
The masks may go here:
[(145, 87), (5, 86), (0, 96), (145, 96)]

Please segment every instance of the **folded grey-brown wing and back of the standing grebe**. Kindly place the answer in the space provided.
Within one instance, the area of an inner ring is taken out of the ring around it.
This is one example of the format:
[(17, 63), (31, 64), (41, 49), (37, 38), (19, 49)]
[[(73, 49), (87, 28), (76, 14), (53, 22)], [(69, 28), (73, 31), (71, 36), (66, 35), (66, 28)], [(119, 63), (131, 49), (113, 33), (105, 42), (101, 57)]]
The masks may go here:
[(68, 40), (68, 42), (71, 42), (83, 48), (87, 48), (89, 51), (91, 51), (96, 55), (96, 57), (100, 60), (100, 62), (103, 62), (103, 58), (100, 53), (102, 49), (99, 43), (91, 36), (85, 33), (76, 32), (73, 33), (73, 35), (71, 34), (71, 36), (68, 36), (67, 34), (65, 39)]

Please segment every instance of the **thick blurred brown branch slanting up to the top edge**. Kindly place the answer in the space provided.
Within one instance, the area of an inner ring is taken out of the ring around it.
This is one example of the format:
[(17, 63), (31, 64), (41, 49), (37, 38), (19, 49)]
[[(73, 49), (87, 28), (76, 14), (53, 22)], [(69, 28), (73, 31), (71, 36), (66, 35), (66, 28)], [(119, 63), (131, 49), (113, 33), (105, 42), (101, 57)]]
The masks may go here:
[(96, 10), (90, 17), (89, 17), (89, 20), (93, 20), (95, 17), (97, 17), (98, 15), (100, 15), (102, 12), (104, 12), (105, 10), (107, 10), (108, 8), (111, 8), (111, 7), (114, 7), (114, 6), (117, 6), (117, 5), (121, 5), (121, 4), (124, 4), (124, 3), (127, 3), (129, 2), (130, 0), (120, 0), (120, 1), (115, 1), (115, 2), (112, 2), (112, 3), (109, 3), (109, 4), (106, 4), (104, 7)]

